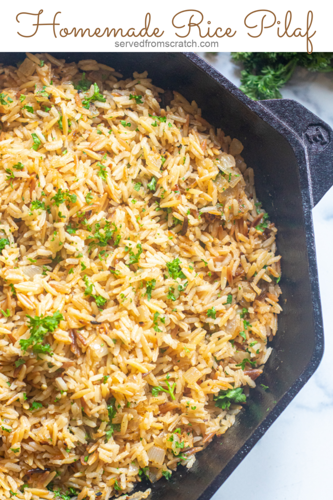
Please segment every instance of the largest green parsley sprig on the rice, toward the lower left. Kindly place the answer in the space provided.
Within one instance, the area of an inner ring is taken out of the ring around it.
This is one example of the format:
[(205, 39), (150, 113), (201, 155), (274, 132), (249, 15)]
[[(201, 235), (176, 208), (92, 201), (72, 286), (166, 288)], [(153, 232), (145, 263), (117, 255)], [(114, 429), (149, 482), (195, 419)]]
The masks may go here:
[(21, 338), (19, 344), (23, 352), (27, 350), (28, 347), (32, 346), (34, 352), (50, 352), (50, 345), (42, 345), (44, 336), (55, 330), (58, 327), (60, 321), (63, 319), (63, 315), (57, 310), (52, 316), (29, 316), (28, 327), (30, 328), (30, 337), (25, 339)]

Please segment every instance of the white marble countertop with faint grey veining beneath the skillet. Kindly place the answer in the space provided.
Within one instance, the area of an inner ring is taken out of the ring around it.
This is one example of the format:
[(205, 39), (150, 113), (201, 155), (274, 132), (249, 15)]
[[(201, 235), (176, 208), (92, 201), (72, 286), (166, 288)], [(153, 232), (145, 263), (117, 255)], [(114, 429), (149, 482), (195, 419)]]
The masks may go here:
[[(228, 52), (198, 52), (224, 76), (240, 84)], [(281, 91), (333, 127), (333, 73), (297, 69)], [(313, 209), (325, 353), (316, 373), (213, 496), (214, 500), (329, 500), (333, 498), (333, 377), (331, 374), (333, 188)]]

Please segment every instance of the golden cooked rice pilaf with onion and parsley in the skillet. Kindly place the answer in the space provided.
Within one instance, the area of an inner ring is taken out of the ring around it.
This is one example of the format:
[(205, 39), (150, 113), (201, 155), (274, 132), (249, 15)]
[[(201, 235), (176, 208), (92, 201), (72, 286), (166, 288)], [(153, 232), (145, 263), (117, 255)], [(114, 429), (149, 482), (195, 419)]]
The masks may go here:
[(169, 479), (233, 425), (282, 310), (243, 145), (146, 71), (27, 53), (0, 89), (0, 499)]

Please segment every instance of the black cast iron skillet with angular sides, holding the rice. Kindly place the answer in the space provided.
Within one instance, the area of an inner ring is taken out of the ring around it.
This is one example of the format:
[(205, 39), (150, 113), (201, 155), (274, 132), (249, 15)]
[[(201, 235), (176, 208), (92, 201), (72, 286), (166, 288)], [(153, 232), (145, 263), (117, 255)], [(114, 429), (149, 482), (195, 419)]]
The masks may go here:
[[(179, 466), (171, 480), (162, 478), (152, 485), (154, 500), (208, 500), (321, 361), (324, 336), (311, 210), (333, 184), (333, 131), (293, 100), (252, 101), (192, 52), (53, 55), (68, 62), (96, 59), (125, 77), (147, 69), (156, 85), (195, 99), (205, 118), (243, 142), (242, 155), (254, 168), (257, 195), (279, 229), (284, 310), (264, 373), (237, 423), (198, 453), (190, 470)], [(0, 53), (0, 62), (14, 64), (24, 57)]]

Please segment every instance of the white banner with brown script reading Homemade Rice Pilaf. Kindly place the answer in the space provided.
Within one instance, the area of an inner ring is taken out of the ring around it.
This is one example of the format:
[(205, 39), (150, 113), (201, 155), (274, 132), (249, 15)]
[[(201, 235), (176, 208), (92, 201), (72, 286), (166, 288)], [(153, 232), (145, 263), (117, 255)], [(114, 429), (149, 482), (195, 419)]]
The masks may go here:
[(328, 1), (15, 1), (2, 51), (331, 51)]

